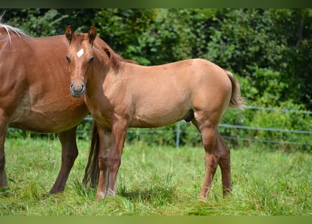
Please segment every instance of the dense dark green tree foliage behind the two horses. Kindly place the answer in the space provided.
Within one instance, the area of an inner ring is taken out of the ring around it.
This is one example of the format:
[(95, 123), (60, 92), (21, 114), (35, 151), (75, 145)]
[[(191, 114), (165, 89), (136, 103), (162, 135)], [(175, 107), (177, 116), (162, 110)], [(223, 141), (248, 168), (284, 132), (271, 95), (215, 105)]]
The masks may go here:
[(112, 49), (140, 64), (205, 58), (238, 76), (249, 105), (312, 110), (311, 9), (6, 9), (2, 20), (31, 36), (93, 25)]

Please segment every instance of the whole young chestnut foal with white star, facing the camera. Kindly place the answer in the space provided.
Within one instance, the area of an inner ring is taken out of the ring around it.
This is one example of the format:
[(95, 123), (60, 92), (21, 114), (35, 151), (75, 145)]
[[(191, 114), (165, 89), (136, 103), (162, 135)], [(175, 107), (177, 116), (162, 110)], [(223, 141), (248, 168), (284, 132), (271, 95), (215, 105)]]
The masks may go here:
[(230, 151), (217, 127), (227, 106), (244, 105), (233, 74), (204, 59), (160, 66), (126, 62), (96, 37), (94, 27), (88, 34), (74, 34), (69, 25), (65, 35), (72, 96), (85, 94), (86, 105), (97, 122), (100, 148), (90, 152), (97, 153), (100, 169), (95, 200), (115, 194), (128, 127), (161, 127), (183, 119), (191, 121), (203, 139), (205, 179), (201, 197), (208, 196), (217, 165), (224, 195), (231, 192)]

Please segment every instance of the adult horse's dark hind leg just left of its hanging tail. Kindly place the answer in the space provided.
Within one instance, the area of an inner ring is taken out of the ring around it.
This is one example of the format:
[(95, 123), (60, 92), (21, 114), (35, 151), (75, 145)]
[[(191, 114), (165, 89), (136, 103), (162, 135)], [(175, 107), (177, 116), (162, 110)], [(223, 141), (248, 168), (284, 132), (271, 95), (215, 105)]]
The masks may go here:
[(62, 165), (57, 179), (55, 180), (55, 183), (50, 190), (50, 194), (56, 194), (64, 190), (69, 172), (72, 169), (74, 161), (78, 156), (76, 128), (77, 127), (74, 127), (71, 130), (60, 132), (58, 134), (58, 138), (62, 144)]

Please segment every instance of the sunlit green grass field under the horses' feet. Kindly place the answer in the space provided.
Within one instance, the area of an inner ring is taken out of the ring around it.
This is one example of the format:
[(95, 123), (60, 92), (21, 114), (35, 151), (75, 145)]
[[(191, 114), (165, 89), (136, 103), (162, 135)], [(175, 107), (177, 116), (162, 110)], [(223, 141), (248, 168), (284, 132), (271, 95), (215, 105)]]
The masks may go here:
[(203, 148), (126, 145), (117, 195), (94, 202), (95, 190), (81, 185), (88, 141), (63, 193), (48, 195), (60, 168), (55, 140), (7, 139), (8, 188), (0, 192), (0, 216), (7, 215), (311, 215), (308, 153), (268, 148), (231, 150), (233, 194), (222, 197), (219, 168), (208, 200), (198, 200), (204, 175)]

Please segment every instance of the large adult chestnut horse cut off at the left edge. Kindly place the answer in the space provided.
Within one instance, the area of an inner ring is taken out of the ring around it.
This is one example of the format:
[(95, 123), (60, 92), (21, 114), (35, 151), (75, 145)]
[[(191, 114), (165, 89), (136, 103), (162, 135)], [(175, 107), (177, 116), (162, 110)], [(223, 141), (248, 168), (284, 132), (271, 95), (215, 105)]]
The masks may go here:
[(58, 193), (78, 155), (76, 127), (89, 113), (69, 92), (64, 35), (32, 38), (0, 23), (0, 188), (6, 187), (4, 141), (11, 124), (32, 132), (58, 132), (62, 165), (50, 193)]

